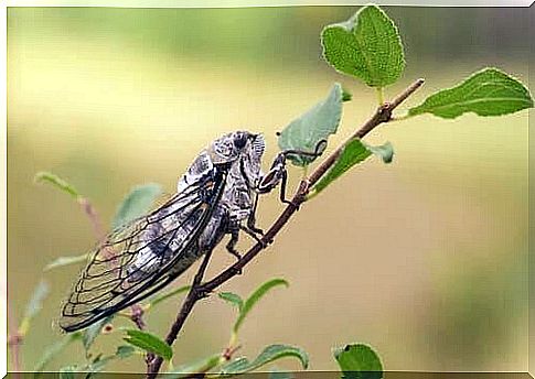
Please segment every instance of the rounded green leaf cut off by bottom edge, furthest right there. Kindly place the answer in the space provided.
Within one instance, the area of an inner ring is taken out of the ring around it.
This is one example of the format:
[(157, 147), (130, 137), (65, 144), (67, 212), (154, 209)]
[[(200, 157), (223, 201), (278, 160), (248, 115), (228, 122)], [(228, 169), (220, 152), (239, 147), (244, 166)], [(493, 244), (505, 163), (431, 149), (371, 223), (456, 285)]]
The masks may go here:
[(333, 350), (340, 368), (347, 379), (381, 379), (383, 365), (377, 354), (366, 345), (346, 345)]

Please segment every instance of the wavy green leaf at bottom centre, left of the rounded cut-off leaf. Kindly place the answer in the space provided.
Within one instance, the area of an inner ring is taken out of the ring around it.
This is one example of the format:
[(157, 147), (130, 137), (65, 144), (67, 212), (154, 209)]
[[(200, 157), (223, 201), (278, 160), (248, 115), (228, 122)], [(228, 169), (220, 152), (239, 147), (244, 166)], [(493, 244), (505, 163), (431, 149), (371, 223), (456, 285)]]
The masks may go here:
[(249, 372), (286, 357), (298, 358), (304, 369), (309, 366), (309, 356), (303, 349), (289, 345), (270, 345), (266, 347), (253, 361), (242, 357), (225, 365), (225, 367), (222, 368), (222, 373), (236, 375)]

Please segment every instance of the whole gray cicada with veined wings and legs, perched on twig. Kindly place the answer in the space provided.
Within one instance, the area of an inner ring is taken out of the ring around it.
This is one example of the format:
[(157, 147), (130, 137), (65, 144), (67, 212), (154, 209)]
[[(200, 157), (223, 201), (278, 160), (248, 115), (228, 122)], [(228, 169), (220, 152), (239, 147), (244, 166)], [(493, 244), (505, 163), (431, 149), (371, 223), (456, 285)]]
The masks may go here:
[[(256, 227), (258, 195), (280, 184), (285, 198), (285, 151), (264, 174), (261, 134), (235, 131), (202, 150), (178, 182), (176, 193), (146, 216), (113, 230), (82, 271), (63, 305), (60, 326), (84, 328), (161, 290), (212, 251), (226, 235), (236, 257), (240, 231), (261, 237)], [(318, 149), (317, 149), (318, 150)]]

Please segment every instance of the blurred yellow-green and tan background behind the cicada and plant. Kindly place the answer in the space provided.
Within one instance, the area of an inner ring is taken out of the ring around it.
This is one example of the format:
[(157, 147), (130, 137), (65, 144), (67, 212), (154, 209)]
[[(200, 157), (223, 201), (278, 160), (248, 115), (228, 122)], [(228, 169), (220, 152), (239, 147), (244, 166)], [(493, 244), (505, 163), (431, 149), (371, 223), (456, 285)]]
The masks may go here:
[[(172, 192), (195, 154), (222, 133), (275, 132), (325, 96), (353, 93), (331, 147), (374, 109), (375, 94), (321, 59), (319, 34), (357, 8), (10, 8), (8, 10), (8, 272), (11, 321), (41, 277), (52, 285), (23, 346), (31, 369), (61, 337), (54, 321), (79, 268), (42, 273), (58, 256), (94, 243), (78, 206), (41, 170), (67, 178), (108, 223), (135, 184)], [(403, 79), (426, 86), (407, 104), (497, 66), (527, 80), (525, 9), (385, 8), (406, 50)], [(311, 369), (335, 369), (331, 347), (365, 342), (388, 370), (527, 368), (527, 112), (457, 120), (431, 116), (378, 129), (393, 164), (367, 162), (303, 207), (276, 243), (224, 290), (246, 294), (275, 275), (291, 282), (246, 321), (240, 353), (289, 343)], [(300, 173), (291, 169), (296, 183)], [(259, 224), (281, 210), (264, 199)], [(242, 246), (245, 248), (247, 243)], [(233, 257), (218, 248), (211, 272)], [(186, 283), (191, 273), (176, 285)], [(179, 300), (148, 316), (163, 335)], [(197, 306), (175, 364), (218, 351), (234, 311), (212, 296)], [(95, 350), (114, 350), (118, 335)], [(82, 362), (76, 346), (55, 369)], [(130, 359), (114, 370), (142, 370)], [(292, 361), (287, 368), (297, 369)]]

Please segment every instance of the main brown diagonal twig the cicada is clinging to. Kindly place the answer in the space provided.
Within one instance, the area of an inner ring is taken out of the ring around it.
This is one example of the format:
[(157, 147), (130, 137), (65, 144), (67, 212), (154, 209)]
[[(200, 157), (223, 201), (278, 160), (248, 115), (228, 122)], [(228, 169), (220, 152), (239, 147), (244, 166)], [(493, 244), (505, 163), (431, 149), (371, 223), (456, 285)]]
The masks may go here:
[[(424, 79), (418, 79), (408, 86), (404, 91), (396, 96), (390, 102), (382, 104), (375, 113), (366, 121), (364, 124), (353, 134), (347, 141), (342, 143), (334, 152), (332, 152), (311, 174), (308, 178), (300, 182), (299, 187), (293, 195), (290, 204), (287, 205), (282, 214), (275, 220), (269, 230), (260, 239), (260, 242), (254, 245), (233, 266), (222, 271), (215, 278), (208, 280), (207, 282), (202, 282), (204, 272), (206, 270), (210, 255), (206, 255), (203, 263), (201, 264), (194, 280), (193, 285), (188, 294), (186, 299), (182, 303), (182, 306), (176, 315), (171, 329), (165, 337), (165, 342), (172, 345), (176, 339), (185, 320), (190, 315), (195, 303), (205, 297), (206, 294), (214, 291), (221, 284), (231, 280), (235, 275), (242, 273), (242, 269), (250, 262), (260, 251), (263, 251), (269, 243), (271, 243), (277, 236), (277, 234), (282, 229), (282, 227), (289, 221), (291, 216), (299, 209), (299, 207), (307, 201), (307, 195), (310, 188), (318, 183), (318, 181), (332, 167), (336, 162), (338, 158), (342, 153), (345, 144), (353, 139), (361, 139), (374, 130), (377, 126), (384, 122), (388, 122), (392, 119), (392, 112), (396, 109), (403, 101), (405, 101), (410, 95), (413, 95), (418, 88), (424, 85)], [(158, 371), (162, 365), (162, 358), (156, 357), (151, 361), (147, 362), (147, 379), (153, 379), (157, 377)]]

